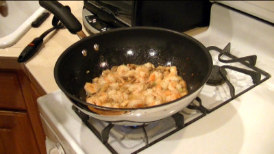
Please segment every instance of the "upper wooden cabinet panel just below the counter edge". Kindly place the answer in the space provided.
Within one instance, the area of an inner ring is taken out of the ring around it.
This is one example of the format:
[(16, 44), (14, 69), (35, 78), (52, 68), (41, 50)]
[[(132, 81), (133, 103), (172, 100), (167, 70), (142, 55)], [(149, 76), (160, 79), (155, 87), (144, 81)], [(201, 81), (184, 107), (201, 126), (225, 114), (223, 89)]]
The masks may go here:
[(0, 71), (0, 109), (26, 110), (18, 76), (14, 71)]

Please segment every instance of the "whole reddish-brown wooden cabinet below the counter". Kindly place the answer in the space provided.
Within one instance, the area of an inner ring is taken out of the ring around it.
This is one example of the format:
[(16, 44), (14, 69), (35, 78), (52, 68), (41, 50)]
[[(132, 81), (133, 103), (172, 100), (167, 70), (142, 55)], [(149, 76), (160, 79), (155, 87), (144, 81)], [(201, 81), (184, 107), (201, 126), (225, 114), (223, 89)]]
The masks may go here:
[(42, 96), (23, 70), (0, 69), (0, 153), (45, 154), (36, 99)]

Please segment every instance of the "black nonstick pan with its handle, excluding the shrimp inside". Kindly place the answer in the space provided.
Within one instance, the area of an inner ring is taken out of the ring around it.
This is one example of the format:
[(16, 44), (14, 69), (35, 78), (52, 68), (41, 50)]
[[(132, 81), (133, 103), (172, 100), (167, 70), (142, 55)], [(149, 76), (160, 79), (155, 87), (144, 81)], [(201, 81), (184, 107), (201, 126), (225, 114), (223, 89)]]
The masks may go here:
[[(40, 1), (57, 16), (75, 42), (58, 58), (54, 77), (67, 98), (82, 112), (119, 125), (138, 125), (171, 116), (197, 97), (212, 71), (212, 57), (199, 41), (186, 34), (159, 27), (123, 27), (85, 37), (82, 25), (57, 1)], [(69, 39), (69, 38), (68, 38)], [(178, 75), (188, 86), (186, 96), (152, 107), (112, 108), (86, 103), (84, 84), (102, 71), (121, 64), (145, 64), (155, 67), (177, 66)]]

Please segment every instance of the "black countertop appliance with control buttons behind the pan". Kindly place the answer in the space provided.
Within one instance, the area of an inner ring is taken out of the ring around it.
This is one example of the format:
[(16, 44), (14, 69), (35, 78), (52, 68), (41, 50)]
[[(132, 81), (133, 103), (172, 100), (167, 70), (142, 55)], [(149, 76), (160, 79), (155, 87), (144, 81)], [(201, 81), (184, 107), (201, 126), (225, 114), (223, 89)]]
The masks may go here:
[(83, 20), (95, 33), (128, 26), (186, 31), (208, 26), (209, 1), (84, 1)]

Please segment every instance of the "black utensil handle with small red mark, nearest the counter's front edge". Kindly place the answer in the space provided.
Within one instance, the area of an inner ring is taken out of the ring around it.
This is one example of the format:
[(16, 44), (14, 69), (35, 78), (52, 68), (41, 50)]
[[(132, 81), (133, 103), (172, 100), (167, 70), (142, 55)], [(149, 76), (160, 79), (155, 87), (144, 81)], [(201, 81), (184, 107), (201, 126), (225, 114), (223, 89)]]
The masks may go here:
[(34, 55), (38, 51), (42, 42), (42, 38), (34, 38), (34, 40), (32, 40), (32, 42), (30, 42), (27, 47), (23, 49), (22, 53), (17, 59), (17, 62), (26, 62), (27, 60), (29, 60), (29, 58), (31, 58), (32, 55)]

